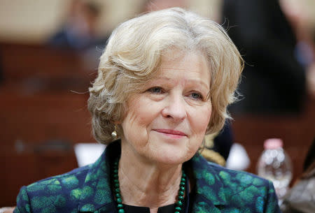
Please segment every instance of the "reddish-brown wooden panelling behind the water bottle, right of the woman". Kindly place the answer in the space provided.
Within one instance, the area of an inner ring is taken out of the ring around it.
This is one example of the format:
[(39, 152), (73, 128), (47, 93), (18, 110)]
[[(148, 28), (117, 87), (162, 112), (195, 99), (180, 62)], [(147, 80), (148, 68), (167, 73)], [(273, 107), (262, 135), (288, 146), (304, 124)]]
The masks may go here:
[[(315, 137), (315, 98), (309, 97), (304, 112), (298, 116), (235, 117), (232, 122), (235, 142), (244, 145), (251, 165), (248, 172), (256, 173), (256, 164), (268, 138), (281, 138), (283, 148), (293, 162), (293, 182), (302, 174), (302, 166)], [(293, 184), (291, 182), (291, 184)]]

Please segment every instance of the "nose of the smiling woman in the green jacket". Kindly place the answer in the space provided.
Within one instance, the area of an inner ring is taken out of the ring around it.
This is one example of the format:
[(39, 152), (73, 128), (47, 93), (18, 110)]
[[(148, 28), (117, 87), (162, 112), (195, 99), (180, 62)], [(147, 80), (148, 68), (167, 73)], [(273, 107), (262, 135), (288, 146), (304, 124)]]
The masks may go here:
[(174, 121), (181, 121), (186, 118), (186, 102), (183, 96), (172, 95), (165, 101), (165, 108), (162, 110), (163, 117), (172, 118)]

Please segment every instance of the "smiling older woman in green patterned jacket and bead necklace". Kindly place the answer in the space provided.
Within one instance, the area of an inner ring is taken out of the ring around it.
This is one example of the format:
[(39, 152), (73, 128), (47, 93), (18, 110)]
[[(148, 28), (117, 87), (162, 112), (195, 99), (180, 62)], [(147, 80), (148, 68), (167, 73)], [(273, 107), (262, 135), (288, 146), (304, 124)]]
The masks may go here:
[[(106, 150), (90, 166), (23, 186), (18, 212), (279, 212), (271, 182), (208, 163), (243, 61), (225, 31), (180, 8), (113, 31), (88, 108)], [(119, 139), (120, 138), (120, 139)]]

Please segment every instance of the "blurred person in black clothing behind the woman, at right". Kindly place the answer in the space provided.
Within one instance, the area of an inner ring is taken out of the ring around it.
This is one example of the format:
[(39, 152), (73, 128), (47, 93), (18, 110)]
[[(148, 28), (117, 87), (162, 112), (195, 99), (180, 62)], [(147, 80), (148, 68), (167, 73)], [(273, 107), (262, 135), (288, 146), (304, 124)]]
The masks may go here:
[(274, 0), (225, 0), (224, 26), (244, 55), (243, 99), (233, 113), (297, 115), (306, 94), (305, 71), (294, 55), (293, 29)]

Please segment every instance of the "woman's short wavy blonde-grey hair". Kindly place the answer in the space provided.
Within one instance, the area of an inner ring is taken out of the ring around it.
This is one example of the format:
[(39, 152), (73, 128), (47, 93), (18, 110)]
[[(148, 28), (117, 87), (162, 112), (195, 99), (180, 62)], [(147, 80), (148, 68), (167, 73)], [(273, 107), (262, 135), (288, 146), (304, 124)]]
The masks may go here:
[[(168, 50), (198, 51), (207, 58), (212, 104), (207, 133), (223, 128), (230, 118), (227, 107), (236, 100), (244, 61), (221, 25), (182, 8), (169, 8), (127, 20), (111, 34), (87, 103), (98, 142), (113, 140), (114, 125), (125, 117), (124, 103), (155, 77)], [(123, 133), (121, 126), (117, 131)]]

